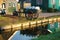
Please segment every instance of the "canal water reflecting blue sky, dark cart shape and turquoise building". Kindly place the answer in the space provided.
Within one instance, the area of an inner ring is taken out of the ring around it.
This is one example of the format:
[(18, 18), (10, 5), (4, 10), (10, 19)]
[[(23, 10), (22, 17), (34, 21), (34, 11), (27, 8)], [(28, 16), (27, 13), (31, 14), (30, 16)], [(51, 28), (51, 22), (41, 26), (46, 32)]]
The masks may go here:
[[(49, 25), (49, 29), (52, 29), (52, 31), (60, 27), (60, 23), (52, 23), (52, 25)], [(54, 29), (53, 29), (54, 28)], [(26, 29), (26, 30), (18, 30), (16, 31), (15, 35), (10, 40), (32, 40), (34, 38), (39, 37), (40, 35), (47, 35), (50, 32), (47, 30), (48, 25), (45, 26), (39, 26), (32, 29)]]

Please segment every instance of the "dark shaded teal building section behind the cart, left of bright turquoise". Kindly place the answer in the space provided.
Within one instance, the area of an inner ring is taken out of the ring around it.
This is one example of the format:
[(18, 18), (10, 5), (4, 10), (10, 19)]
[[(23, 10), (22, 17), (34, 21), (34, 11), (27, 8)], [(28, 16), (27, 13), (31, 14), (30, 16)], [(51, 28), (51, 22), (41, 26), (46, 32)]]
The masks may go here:
[(39, 6), (42, 10), (47, 10), (49, 0), (31, 0), (32, 6)]

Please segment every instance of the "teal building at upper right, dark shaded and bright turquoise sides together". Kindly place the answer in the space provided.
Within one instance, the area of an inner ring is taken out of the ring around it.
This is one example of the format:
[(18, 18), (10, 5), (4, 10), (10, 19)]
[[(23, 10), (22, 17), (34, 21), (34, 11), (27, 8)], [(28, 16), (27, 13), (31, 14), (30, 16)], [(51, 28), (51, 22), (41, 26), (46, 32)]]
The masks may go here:
[(31, 0), (32, 6), (40, 6), (42, 10), (59, 10), (60, 0)]

